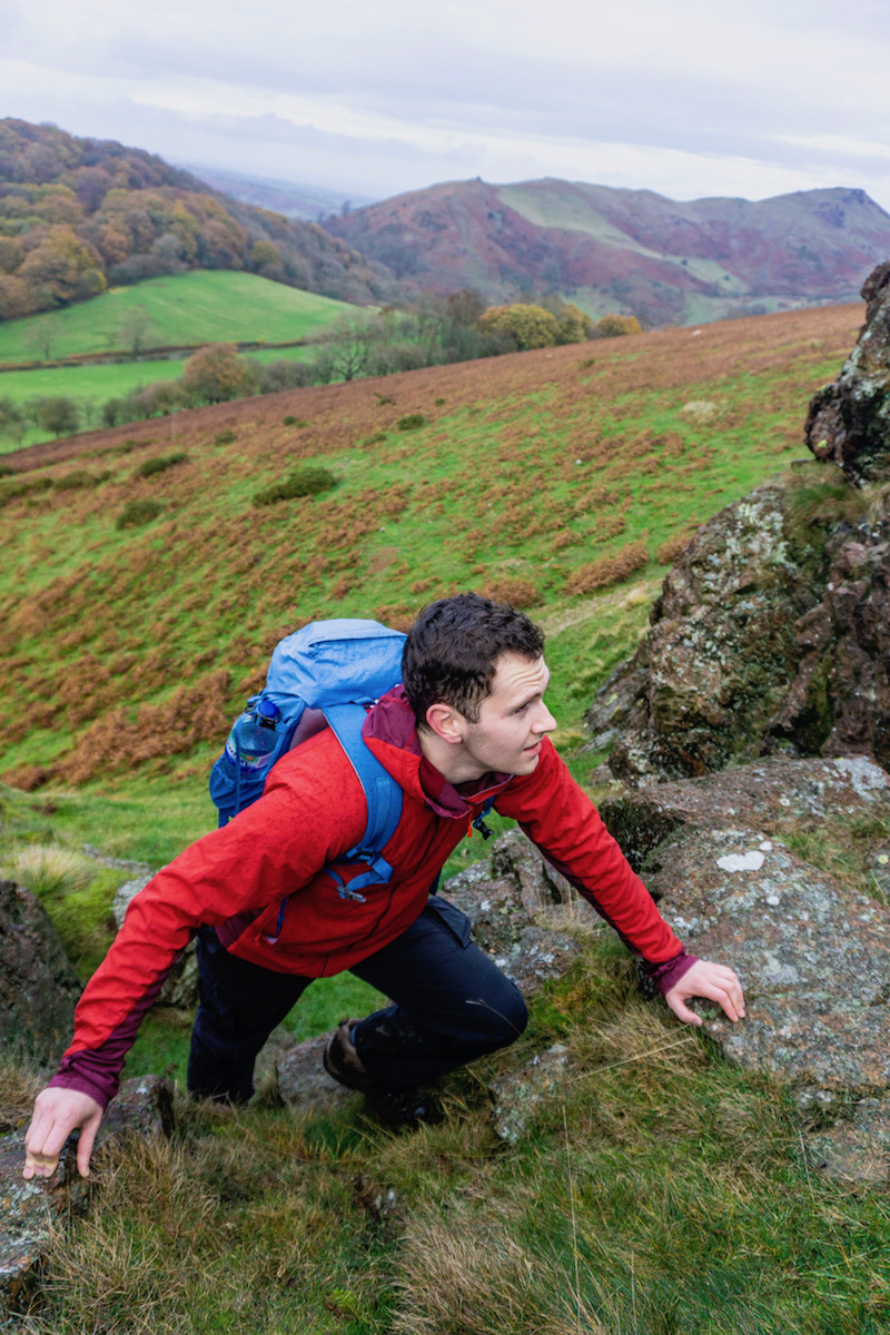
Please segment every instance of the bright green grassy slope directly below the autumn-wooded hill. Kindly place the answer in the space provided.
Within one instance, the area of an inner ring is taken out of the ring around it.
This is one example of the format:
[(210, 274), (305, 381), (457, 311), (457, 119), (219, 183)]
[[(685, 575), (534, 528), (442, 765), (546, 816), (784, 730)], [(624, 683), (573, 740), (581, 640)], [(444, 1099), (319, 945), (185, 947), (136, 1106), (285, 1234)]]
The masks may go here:
[[(279, 343), (308, 338), (354, 307), (256, 274), (195, 270), (115, 287), (91, 302), (0, 323), (0, 363), (40, 356), (29, 348), (37, 330), (52, 331), (51, 356), (125, 348), (120, 327), (143, 307), (156, 328), (151, 347), (201, 343)], [(0, 394), (5, 394), (0, 379)]]

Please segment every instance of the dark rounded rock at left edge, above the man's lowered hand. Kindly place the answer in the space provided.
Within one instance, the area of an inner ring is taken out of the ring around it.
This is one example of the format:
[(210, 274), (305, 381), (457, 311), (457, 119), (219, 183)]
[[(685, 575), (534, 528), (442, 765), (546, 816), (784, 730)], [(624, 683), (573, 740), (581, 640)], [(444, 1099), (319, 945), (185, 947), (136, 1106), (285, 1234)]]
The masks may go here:
[(45, 909), (0, 881), (0, 1044), (41, 1064), (71, 1041), (80, 983)]

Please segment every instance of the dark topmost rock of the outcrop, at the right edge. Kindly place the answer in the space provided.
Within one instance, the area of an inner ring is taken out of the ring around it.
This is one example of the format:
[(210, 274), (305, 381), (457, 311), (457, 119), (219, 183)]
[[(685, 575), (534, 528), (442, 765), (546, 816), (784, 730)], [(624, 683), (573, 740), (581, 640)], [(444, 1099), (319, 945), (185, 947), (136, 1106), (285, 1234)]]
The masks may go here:
[(862, 288), (867, 302), (859, 342), (841, 375), (813, 398), (806, 443), (854, 482), (890, 474), (890, 263), (878, 264)]

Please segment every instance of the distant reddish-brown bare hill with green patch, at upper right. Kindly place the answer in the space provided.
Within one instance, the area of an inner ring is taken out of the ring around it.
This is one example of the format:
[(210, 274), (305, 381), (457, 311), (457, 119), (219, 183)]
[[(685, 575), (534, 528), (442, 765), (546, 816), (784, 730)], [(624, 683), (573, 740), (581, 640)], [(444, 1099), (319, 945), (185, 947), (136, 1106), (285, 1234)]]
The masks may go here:
[(324, 227), (419, 288), (476, 287), (500, 302), (556, 292), (652, 324), (855, 300), (890, 256), (890, 215), (861, 190), (679, 204), (646, 190), (476, 179)]

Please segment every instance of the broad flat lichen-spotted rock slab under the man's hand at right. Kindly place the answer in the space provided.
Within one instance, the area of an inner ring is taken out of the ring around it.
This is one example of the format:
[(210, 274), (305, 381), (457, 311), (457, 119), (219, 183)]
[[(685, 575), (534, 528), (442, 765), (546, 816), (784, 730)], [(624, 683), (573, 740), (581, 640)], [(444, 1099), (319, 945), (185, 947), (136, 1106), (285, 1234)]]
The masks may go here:
[(647, 788), (602, 814), (686, 948), (739, 973), (746, 1020), (703, 1012), (726, 1056), (817, 1089), (890, 1087), (890, 910), (782, 842), (833, 820), (886, 828), (877, 765), (777, 758)]

